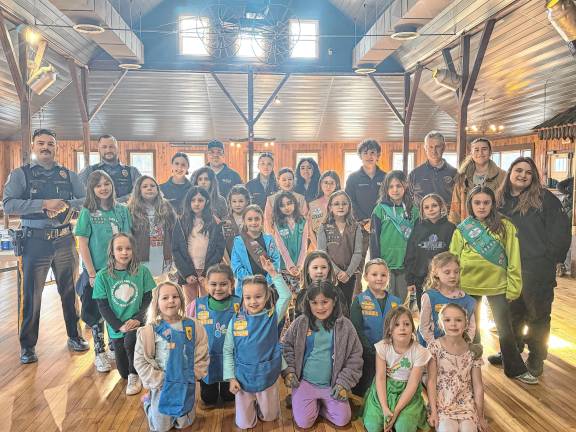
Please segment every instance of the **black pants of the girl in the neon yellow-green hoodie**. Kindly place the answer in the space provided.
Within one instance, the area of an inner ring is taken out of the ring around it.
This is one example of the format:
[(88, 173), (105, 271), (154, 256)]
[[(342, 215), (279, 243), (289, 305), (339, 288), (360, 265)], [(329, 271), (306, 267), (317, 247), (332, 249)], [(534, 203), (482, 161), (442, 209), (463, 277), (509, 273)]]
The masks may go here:
[[(476, 318), (476, 335), (474, 342), (480, 342), (480, 304), (482, 303), (482, 296), (472, 296), (476, 300), (476, 309), (474, 315)], [(510, 305), (506, 300), (505, 294), (495, 296), (486, 296), (494, 322), (498, 329), (498, 339), (500, 342), (500, 352), (502, 353), (502, 362), (504, 364), (504, 373), (507, 377), (513, 378), (526, 372), (526, 365), (520, 356), (518, 344), (514, 330), (512, 329), (512, 320), (510, 318)]]

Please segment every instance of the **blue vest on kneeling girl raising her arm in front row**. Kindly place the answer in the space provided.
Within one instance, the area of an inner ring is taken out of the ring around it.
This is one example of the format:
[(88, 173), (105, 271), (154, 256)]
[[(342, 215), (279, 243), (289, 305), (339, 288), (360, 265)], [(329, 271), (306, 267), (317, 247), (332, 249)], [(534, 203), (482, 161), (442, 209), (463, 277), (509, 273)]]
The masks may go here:
[(260, 315), (242, 311), (232, 319), (236, 379), (246, 392), (263, 391), (276, 382), (282, 368), (276, 311)]

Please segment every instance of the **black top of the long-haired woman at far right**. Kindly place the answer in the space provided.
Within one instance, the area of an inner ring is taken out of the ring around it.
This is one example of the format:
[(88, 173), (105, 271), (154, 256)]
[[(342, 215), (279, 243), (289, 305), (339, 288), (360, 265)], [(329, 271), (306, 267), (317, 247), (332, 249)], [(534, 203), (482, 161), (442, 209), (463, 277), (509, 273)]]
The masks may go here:
[(508, 194), (499, 208), (518, 229), (522, 272), (553, 268), (564, 262), (570, 249), (570, 223), (562, 204), (549, 190), (543, 189), (542, 193), (542, 208), (532, 208), (525, 215), (514, 211), (518, 197)]

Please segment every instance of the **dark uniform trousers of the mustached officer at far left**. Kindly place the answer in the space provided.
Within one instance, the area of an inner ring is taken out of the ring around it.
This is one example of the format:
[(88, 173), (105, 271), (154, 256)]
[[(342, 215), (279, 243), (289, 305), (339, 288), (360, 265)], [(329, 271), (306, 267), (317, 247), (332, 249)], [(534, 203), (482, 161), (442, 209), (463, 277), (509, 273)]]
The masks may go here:
[[(52, 269), (66, 323), (68, 337), (78, 337), (78, 312), (74, 281), (78, 275), (78, 253), (74, 236), (55, 240), (26, 238), (18, 265), (18, 331), (20, 346), (32, 348), (38, 341), (42, 292)], [(20, 264), (20, 263), (19, 263)]]

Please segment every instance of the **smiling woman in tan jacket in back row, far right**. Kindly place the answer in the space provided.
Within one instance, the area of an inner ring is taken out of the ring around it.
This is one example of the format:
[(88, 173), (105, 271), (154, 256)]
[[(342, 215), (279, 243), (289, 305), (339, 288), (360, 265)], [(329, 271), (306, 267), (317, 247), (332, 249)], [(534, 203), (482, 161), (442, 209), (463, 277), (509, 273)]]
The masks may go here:
[(466, 198), (474, 186), (487, 186), (496, 191), (504, 182), (506, 172), (490, 160), (491, 155), (492, 143), (489, 139), (477, 138), (470, 144), (470, 155), (458, 169), (452, 192), (448, 220), (453, 224), (458, 225), (468, 217)]

